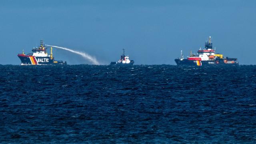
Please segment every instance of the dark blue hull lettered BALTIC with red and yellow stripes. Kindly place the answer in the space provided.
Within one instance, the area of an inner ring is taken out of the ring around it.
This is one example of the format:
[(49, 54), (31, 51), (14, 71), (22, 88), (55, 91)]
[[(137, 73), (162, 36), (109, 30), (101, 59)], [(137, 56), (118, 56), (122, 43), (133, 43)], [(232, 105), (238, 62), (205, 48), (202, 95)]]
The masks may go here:
[(66, 62), (56, 61), (51, 59), (50, 57), (36, 57), (36, 56), (28, 56), (24, 54), (18, 54), (20, 58), (21, 65), (47, 65), (47, 64), (62, 64), (66, 65)]

